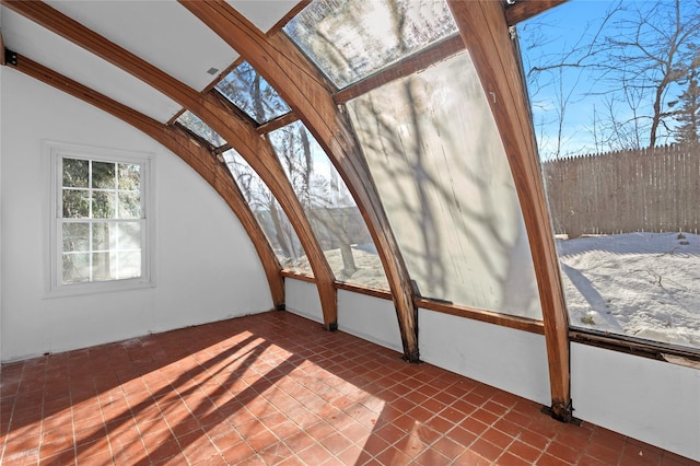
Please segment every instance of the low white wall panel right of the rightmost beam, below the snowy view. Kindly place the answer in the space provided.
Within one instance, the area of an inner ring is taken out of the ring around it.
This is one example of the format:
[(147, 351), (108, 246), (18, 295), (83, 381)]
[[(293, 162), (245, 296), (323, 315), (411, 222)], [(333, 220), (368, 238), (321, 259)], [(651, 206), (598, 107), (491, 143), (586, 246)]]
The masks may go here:
[(574, 416), (700, 461), (700, 371), (571, 345)]

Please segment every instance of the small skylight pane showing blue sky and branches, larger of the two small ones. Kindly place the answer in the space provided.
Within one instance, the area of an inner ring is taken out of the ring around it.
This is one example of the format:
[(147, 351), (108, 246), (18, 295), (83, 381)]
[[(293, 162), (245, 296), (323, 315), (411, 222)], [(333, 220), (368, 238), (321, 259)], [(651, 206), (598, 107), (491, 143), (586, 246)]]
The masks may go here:
[(258, 125), (291, 112), (277, 91), (247, 61), (219, 81), (217, 90)]

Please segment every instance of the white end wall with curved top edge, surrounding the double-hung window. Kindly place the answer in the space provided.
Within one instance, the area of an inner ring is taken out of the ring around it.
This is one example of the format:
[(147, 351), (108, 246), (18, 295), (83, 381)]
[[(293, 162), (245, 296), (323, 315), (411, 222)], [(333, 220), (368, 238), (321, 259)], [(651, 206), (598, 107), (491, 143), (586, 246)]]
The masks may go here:
[[(2, 71), (1, 357), (23, 359), (268, 311), (253, 245), (215, 191), (122, 121)], [(155, 288), (45, 298), (42, 140), (155, 154)]]

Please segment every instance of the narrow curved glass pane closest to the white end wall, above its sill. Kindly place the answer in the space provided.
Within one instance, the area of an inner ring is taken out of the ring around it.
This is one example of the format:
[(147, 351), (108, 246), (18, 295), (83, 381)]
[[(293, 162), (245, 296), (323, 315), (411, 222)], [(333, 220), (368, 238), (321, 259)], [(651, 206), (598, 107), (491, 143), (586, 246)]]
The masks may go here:
[(222, 155), (282, 268), (313, 275), (296, 232), (267, 185), (233, 149)]

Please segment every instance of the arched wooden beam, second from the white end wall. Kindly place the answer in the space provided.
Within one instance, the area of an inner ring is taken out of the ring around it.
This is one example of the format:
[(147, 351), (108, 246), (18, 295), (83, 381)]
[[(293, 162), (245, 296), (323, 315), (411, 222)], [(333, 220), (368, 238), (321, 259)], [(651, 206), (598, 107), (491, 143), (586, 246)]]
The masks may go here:
[(287, 213), (316, 278), (324, 327), (337, 327), (338, 302), (332, 270), (272, 147), (256, 133), (252, 125), (231, 115), (210, 94), (200, 95), (44, 2), (2, 0), (2, 4), (150, 84), (188, 108), (231, 143), (260, 176)]

